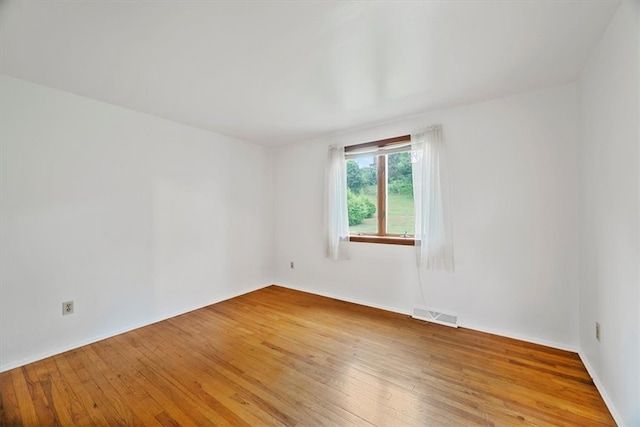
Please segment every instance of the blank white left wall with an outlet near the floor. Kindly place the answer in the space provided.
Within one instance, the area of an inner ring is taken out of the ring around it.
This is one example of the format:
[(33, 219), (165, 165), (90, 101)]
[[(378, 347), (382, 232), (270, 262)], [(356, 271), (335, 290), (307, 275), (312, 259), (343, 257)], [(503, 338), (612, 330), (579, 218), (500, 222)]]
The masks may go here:
[(271, 282), (266, 148), (0, 84), (0, 370)]

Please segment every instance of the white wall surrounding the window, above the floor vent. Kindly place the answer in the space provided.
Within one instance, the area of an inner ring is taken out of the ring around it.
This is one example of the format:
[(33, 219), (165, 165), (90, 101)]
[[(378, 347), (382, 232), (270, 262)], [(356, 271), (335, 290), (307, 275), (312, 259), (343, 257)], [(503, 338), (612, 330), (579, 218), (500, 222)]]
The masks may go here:
[(276, 282), (399, 312), (423, 305), (412, 247), (353, 243), (351, 260), (324, 258), (324, 167), (331, 143), (442, 123), (456, 272), (422, 272), (426, 305), (463, 326), (577, 349), (576, 114), (569, 84), (279, 148)]

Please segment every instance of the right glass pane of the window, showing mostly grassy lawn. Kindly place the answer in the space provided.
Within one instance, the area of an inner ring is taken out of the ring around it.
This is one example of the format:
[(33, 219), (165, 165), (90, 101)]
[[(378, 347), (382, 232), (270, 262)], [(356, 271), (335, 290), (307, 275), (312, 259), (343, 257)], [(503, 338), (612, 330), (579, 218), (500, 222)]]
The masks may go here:
[(387, 234), (413, 234), (411, 156), (404, 152), (387, 157)]

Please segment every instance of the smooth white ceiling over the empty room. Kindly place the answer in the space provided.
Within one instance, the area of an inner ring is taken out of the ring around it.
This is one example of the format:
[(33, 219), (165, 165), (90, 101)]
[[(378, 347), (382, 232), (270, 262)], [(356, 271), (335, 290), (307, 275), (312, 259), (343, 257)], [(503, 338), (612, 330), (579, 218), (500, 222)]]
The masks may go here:
[(275, 145), (570, 82), (619, 1), (4, 1), (4, 74)]

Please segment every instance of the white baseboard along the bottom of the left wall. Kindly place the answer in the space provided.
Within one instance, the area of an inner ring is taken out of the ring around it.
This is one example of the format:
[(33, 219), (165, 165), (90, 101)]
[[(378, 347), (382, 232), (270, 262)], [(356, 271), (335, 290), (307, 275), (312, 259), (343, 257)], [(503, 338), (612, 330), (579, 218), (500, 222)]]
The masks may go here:
[(9, 371), (11, 369), (19, 368), (20, 366), (24, 366), (24, 365), (27, 365), (29, 363), (37, 362), (39, 360), (46, 359), (47, 357), (55, 356), (57, 354), (61, 354), (61, 353), (64, 353), (66, 351), (69, 351), (69, 350), (75, 350), (76, 348), (80, 348), (80, 347), (83, 347), (85, 345), (93, 344), (95, 342), (102, 341), (102, 340), (107, 339), (107, 338), (115, 337), (116, 335), (124, 334), (126, 332), (130, 332), (130, 331), (133, 331), (135, 329), (143, 328), (145, 326), (149, 326), (149, 325), (152, 325), (154, 323), (162, 322), (163, 320), (171, 319), (172, 317), (180, 316), (181, 314), (185, 314), (185, 313), (189, 313), (191, 311), (199, 310), (199, 309), (207, 307), (209, 305), (216, 304), (216, 303), (219, 303), (219, 302), (222, 302), (222, 301), (226, 301), (228, 299), (235, 298), (235, 297), (238, 297), (240, 295), (248, 294), (250, 292), (257, 291), (258, 289), (265, 288), (267, 286), (270, 286), (270, 284), (263, 285), (263, 286), (258, 286), (258, 287), (255, 287), (255, 288), (250, 288), (249, 290), (241, 292), (239, 294), (227, 295), (227, 296), (224, 296), (222, 298), (217, 298), (215, 300), (208, 301), (208, 302), (206, 302), (204, 304), (201, 304), (201, 305), (199, 304), (197, 306), (190, 307), (190, 308), (188, 308), (186, 310), (176, 311), (176, 312), (171, 313), (171, 314), (166, 315), (166, 316), (157, 317), (155, 319), (151, 319), (151, 320), (146, 321), (146, 322), (141, 322), (141, 323), (137, 323), (137, 324), (134, 324), (134, 325), (130, 325), (130, 326), (127, 326), (126, 328), (117, 329), (115, 331), (111, 331), (111, 332), (108, 332), (106, 334), (101, 334), (101, 335), (97, 335), (97, 336), (94, 336), (94, 337), (91, 337), (91, 338), (88, 338), (88, 339), (85, 339), (85, 340), (76, 341), (74, 343), (71, 343), (71, 344), (68, 344), (68, 345), (65, 345), (65, 346), (62, 346), (62, 347), (58, 347), (58, 348), (55, 348), (55, 349), (47, 350), (47, 351), (44, 351), (42, 353), (39, 353), (39, 354), (36, 354), (36, 355), (33, 355), (33, 356), (29, 356), (29, 357), (25, 357), (25, 358), (20, 359), (20, 360), (16, 360), (16, 361), (12, 361), (12, 362), (9, 362), (9, 363), (5, 363), (3, 365), (0, 365), (0, 372), (5, 372), (5, 371)]

